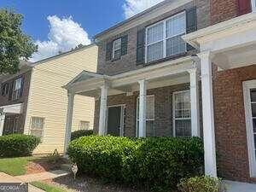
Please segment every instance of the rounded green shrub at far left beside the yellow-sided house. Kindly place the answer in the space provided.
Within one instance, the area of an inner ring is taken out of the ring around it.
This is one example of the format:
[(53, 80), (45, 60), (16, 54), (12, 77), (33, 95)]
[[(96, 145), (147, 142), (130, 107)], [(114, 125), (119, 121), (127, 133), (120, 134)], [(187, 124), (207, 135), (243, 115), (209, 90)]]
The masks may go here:
[(20, 157), (32, 154), (40, 143), (40, 138), (13, 134), (0, 137), (0, 157)]

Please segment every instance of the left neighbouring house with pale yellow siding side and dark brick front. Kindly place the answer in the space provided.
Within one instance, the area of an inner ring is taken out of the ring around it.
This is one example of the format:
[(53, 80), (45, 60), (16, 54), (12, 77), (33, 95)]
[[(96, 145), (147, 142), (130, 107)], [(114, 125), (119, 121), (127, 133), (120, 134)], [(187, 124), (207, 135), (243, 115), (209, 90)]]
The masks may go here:
[[(67, 90), (62, 86), (82, 70), (96, 72), (97, 46), (74, 49), (43, 61), (21, 61), (20, 72), (0, 77), (0, 134), (24, 133), (41, 137), (34, 154), (63, 153)], [(73, 131), (92, 129), (94, 98), (74, 98)]]

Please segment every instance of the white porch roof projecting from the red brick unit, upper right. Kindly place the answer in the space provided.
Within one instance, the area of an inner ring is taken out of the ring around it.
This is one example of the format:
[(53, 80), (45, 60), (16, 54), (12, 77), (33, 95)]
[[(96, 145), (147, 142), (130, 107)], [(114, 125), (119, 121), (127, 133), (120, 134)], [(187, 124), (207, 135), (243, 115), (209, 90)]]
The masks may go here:
[(212, 61), (223, 69), (256, 64), (256, 13), (192, 32), (183, 39), (201, 52), (210, 51)]

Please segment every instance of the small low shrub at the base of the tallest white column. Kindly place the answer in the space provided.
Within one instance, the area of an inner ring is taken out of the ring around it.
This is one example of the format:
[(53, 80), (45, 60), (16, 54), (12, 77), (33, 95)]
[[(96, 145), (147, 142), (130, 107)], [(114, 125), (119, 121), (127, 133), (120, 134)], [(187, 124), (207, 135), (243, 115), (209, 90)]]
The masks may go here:
[(225, 192), (225, 186), (221, 179), (213, 177), (190, 177), (182, 179), (178, 188), (182, 192)]

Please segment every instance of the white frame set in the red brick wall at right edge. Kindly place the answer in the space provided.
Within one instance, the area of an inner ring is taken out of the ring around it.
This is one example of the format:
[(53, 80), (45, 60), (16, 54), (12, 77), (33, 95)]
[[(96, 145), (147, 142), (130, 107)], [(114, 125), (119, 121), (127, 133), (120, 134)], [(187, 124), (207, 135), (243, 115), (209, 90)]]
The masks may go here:
[(250, 176), (256, 177), (256, 156), (254, 149), (254, 136), (253, 136), (253, 117), (252, 117), (252, 103), (250, 90), (256, 89), (256, 79), (242, 82), (245, 119), (247, 126), (247, 148), (250, 166)]

